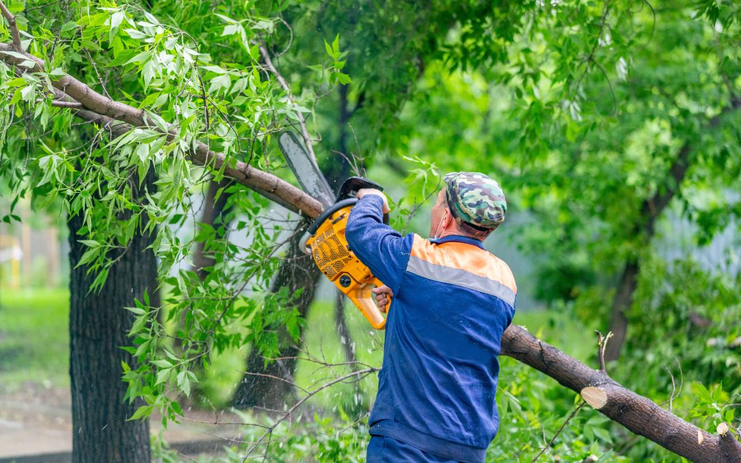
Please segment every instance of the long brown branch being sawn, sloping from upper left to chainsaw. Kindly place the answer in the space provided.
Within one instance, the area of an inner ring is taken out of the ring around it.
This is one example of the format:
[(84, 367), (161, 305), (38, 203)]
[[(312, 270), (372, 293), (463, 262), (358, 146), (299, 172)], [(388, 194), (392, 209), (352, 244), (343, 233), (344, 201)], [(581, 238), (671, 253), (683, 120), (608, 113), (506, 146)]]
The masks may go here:
[[(31, 60), (36, 62), (36, 66), (24, 72), (44, 71), (44, 62), (36, 56), (23, 53), (25, 58), (21, 59), (2, 53), (4, 51), (13, 51), (13, 45), (0, 44), (0, 59), (8, 64), (19, 65), (23, 61)], [(78, 110), (76, 112), (78, 116), (87, 121), (96, 121), (101, 125), (115, 127), (118, 135), (130, 130), (130, 126), (150, 127), (144, 120), (144, 110), (138, 110), (128, 104), (113, 101), (68, 74), (65, 74), (57, 81), (52, 81), (52, 85), (63, 93), (62, 95), (58, 95), (56, 99), (71, 100), (82, 104), (84, 110)], [(60, 96), (67, 96), (69, 98), (60, 98)], [(125, 122), (128, 126), (112, 124), (113, 119)], [(156, 129), (156, 127), (150, 128)], [(167, 138), (173, 139), (175, 133), (176, 129), (170, 130), (167, 133)], [(227, 163), (227, 158), (224, 154), (214, 153), (201, 142), (196, 144), (195, 150), (190, 153), (190, 157), (194, 164), (210, 165), (216, 170)], [(245, 162), (237, 161), (234, 167), (230, 167), (227, 164), (225, 174), (246, 187), (255, 190), (257, 193), (262, 194), (262, 196), (291, 210), (300, 210), (309, 217), (315, 218), (322, 211), (322, 205), (319, 204), (319, 201), (299, 190), (299, 188), (294, 187), (292, 184), (273, 174), (247, 165)]]

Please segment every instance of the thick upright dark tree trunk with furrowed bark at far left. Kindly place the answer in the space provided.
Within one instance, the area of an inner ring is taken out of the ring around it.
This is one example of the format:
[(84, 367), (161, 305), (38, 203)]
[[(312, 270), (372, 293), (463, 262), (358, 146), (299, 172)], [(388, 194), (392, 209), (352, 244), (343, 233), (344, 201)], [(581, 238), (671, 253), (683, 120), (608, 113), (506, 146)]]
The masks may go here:
[[(144, 182), (152, 187), (152, 179)], [(133, 365), (122, 350), (131, 345), (127, 333), (134, 307), (144, 290), (156, 300), (156, 259), (147, 249), (152, 237), (136, 234), (127, 250), (111, 256), (120, 259), (111, 267), (98, 293), (89, 293), (94, 275), (77, 267), (87, 249), (78, 240), (82, 216), (69, 221), (70, 229), (70, 387), (72, 393), (73, 462), (150, 462), (149, 421), (127, 421), (143, 404), (124, 402), (126, 384), (121, 362)]]

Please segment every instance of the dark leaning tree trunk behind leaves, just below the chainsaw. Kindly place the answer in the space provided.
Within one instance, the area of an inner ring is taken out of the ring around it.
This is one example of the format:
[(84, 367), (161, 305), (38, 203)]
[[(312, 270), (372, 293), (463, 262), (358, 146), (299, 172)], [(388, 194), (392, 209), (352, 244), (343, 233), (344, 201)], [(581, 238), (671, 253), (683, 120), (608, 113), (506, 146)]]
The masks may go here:
[[(306, 223), (299, 225), (296, 230), (297, 233), (288, 242), (285, 260), (278, 270), (276, 279), (270, 285), (270, 291), (272, 292), (277, 292), (284, 286), (288, 287), (290, 293), (302, 289), (301, 296), (296, 300), (296, 307), (302, 317), (306, 316), (309, 310), (309, 306), (314, 299), (316, 284), (322, 274), (314, 265), (311, 256), (299, 250), (299, 240), (306, 227)], [(282, 357), (296, 357), (299, 353), (298, 346), (293, 342), (293, 339), (290, 339), (290, 335), (284, 329), (279, 332), (279, 345), (281, 346)], [(295, 368), (295, 359), (285, 359), (265, 364), (265, 359), (259, 351), (251, 350), (249, 356), (247, 356), (247, 373), (245, 373), (245, 377), (239, 382), (234, 392), (231, 406), (240, 409), (247, 407), (262, 407), (269, 410), (282, 409), (287, 398), (292, 397), (295, 391), (287, 382), (269, 376), (292, 381)]]

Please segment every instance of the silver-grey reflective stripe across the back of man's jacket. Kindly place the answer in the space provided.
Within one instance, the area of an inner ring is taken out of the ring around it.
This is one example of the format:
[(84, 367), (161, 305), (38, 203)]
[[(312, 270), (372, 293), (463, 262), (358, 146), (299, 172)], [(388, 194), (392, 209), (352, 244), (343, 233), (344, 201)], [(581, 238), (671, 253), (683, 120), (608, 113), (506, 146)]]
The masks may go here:
[(445, 265), (431, 264), (416, 256), (409, 256), (407, 271), (436, 282), (456, 284), (481, 293), (491, 294), (491, 296), (496, 296), (514, 307), (514, 291), (505, 284), (488, 279), (485, 276), (473, 275), (471, 272), (445, 267)]

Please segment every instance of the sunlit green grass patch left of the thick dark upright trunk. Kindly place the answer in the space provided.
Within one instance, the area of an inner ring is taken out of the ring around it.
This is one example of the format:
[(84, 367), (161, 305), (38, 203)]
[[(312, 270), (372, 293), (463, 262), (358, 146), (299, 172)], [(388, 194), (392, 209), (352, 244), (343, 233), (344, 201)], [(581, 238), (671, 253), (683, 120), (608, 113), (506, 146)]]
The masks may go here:
[(0, 390), (69, 387), (66, 289), (0, 290)]

